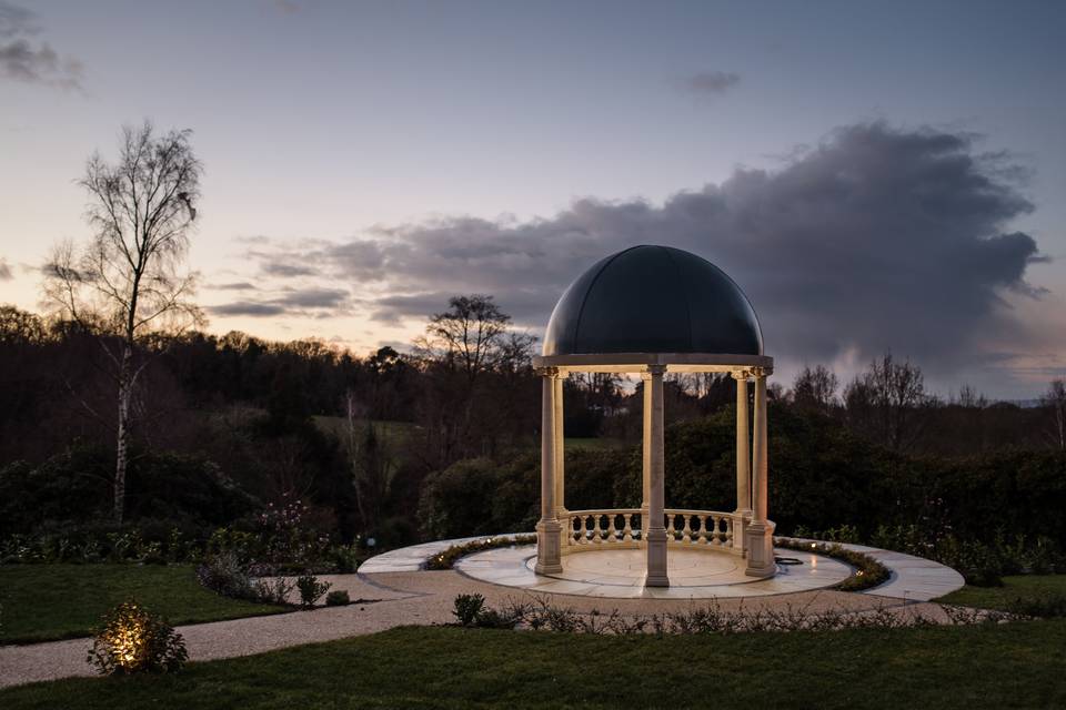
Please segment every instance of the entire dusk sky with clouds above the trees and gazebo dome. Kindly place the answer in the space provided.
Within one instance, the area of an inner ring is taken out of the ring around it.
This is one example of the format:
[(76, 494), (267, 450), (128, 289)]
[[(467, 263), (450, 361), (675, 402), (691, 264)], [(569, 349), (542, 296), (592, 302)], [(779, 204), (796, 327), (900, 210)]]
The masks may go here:
[(785, 385), (886, 351), (945, 396), (1066, 376), (1066, 3), (0, 0), (0, 303), (40, 311), (123, 124), (191, 129), (208, 329), (403, 346), (486, 293), (543, 332), (697, 253)]

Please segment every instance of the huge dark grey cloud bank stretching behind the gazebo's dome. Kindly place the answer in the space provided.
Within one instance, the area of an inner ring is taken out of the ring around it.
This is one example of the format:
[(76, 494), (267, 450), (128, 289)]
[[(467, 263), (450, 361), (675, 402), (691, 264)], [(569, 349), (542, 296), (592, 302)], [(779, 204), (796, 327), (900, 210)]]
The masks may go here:
[[(728, 272), (760, 314), (767, 352), (859, 361), (892, 348), (931, 369), (1014, 337), (1010, 293), (1042, 258), (1010, 229), (1032, 211), (1002, 156), (976, 136), (839, 129), (775, 170), (737, 169), (662, 205), (580, 200), (551, 219), (452, 217), (376, 229), (326, 247), (282, 248), (279, 263), (360, 287), (373, 318), (424, 318), (456, 293), (489, 293), (541, 327), (563, 288), (635, 244), (693, 251)], [(1019, 347), (1020, 343), (1016, 343)]]

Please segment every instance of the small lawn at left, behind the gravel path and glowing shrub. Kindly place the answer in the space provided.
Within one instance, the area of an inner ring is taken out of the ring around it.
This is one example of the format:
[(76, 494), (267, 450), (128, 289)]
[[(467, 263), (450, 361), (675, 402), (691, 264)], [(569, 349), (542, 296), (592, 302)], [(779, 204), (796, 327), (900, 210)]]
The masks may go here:
[(0, 643), (90, 636), (130, 597), (175, 626), (288, 610), (209, 591), (190, 565), (8, 565), (0, 567)]

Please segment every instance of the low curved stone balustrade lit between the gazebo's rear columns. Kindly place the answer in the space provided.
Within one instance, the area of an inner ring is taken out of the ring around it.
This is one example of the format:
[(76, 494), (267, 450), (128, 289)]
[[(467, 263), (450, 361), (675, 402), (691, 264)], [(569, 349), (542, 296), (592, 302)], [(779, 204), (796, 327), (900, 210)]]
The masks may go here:
[[(667, 545), (722, 548), (738, 552), (733, 545), (736, 514), (675, 508), (667, 508), (663, 513)], [(640, 547), (644, 515), (645, 511), (641, 508), (561, 513), (559, 521), (563, 532), (562, 552), (565, 555), (604, 547)]]

